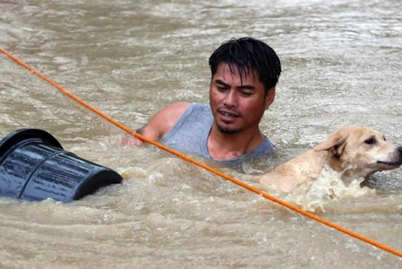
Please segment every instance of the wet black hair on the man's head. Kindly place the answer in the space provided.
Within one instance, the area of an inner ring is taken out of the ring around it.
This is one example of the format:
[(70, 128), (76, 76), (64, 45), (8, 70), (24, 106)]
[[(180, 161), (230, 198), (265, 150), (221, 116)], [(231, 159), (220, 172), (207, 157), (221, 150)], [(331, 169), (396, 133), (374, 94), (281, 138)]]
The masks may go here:
[(282, 71), (275, 51), (252, 37), (232, 38), (217, 48), (209, 58), (212, 77), (221, 62), (225, 62), (232, 73), (236, 67), (241, 77), (257, 72), (265, 86), (265, 96), (276, 86)]

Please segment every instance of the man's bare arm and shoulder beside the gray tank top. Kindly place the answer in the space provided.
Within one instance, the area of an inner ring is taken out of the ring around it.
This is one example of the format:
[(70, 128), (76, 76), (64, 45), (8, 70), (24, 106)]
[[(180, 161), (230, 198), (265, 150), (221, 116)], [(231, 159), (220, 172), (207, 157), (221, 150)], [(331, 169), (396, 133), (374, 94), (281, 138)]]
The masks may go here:
[[(180, 102), (171, 104), (156, 113), (144, 127), (136, 132), (153, 141), (161, 140), (176, 124), (190, 103)], [(122, 139), (125, 145), (138, 146), (144, 144), (140, 139), (129, 135)]]

